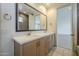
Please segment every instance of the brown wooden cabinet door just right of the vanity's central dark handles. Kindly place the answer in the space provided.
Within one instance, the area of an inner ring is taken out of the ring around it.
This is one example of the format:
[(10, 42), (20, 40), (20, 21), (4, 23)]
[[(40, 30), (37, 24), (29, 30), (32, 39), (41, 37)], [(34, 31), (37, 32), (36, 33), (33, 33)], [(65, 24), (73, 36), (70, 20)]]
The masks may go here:
[(40, 40), (40, 55), (45, 56), (49, 50), (49, 36), (44, 37)]

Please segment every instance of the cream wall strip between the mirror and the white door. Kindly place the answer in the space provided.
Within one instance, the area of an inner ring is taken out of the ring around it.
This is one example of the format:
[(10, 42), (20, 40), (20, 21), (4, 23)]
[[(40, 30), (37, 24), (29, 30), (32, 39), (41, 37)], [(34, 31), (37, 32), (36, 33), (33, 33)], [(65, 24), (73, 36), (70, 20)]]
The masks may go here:
[(56, 32), (56, 16), (56, 8), (51, 8), (47, 11), (48, 32)]

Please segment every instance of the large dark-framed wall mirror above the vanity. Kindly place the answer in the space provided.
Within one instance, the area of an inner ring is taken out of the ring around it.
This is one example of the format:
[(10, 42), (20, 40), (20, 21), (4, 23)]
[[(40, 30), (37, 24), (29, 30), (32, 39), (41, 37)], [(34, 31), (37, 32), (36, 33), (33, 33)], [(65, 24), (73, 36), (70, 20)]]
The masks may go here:
[(29, 4), (16, 4), (16, 31), (46, 30), (46, 15)]

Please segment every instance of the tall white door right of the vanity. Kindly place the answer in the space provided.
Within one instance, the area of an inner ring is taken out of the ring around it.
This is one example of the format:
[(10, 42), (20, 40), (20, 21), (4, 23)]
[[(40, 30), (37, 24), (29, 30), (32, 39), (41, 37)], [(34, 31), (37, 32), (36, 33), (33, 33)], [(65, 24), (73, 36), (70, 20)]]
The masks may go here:
[(57, 46), (72, 49), (72, 6), (57, 10)]

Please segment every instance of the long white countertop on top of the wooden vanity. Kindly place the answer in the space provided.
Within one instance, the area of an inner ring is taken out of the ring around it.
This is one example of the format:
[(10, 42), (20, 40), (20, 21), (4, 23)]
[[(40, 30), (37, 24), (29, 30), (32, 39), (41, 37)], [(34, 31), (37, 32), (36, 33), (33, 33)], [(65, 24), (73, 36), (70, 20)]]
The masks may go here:
[(24, 43), (40, 39), (42, 37), (45, 37), (51, 34), (54, 34), (54, 33), (47, 32), (47, 33), (38, 33), (38, 34), (31, 34), (31, 35), (22, 35), (22, 36), (13, 37), (13, 40), (19, 43), (20, 45), (22, 45)]

